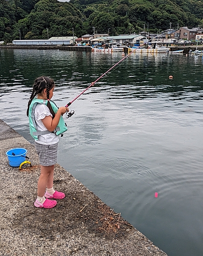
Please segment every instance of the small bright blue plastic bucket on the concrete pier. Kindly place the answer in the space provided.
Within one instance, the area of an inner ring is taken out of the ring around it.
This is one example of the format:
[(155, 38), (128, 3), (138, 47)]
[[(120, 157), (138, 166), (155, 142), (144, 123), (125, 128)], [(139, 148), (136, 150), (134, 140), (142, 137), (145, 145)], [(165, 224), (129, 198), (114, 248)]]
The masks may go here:
[(12, 167), (20, 166), (20, 164), (26, 160), (25, 159), (26, 153), (27, 153), (27, 150), (25, 148), (20, 148), (20, 147), (12, 148), (12, 150), (7, 151), (6, 155), (8, 156), (8, 159), (9, 159), (9, 165)]

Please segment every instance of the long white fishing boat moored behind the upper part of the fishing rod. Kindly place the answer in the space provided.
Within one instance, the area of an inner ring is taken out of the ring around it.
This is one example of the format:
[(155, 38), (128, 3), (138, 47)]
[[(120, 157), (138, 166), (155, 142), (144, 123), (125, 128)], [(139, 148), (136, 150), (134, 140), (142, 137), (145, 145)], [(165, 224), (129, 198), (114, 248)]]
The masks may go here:
[(152, 46), (146, 46), (146, 47), (139, 47), (139, 46), (132, 46), (132, 47), (127, 47), (128, 52), (138, 52), (138, 53), (150, 53), (150, 54), (156, 54), (156, 53), (167, 53), (170, 51), (169, 48), (166, 48), (164, 46), (158, 46), (155, 45), (155, 48)]

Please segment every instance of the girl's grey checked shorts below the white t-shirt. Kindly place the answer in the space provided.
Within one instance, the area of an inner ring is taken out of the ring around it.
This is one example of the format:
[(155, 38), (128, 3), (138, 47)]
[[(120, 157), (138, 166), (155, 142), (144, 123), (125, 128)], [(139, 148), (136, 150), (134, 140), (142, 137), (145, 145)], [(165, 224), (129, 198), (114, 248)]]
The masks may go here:
[(58, 143), (53, 145), (44, 145), (35, 141), (35, 148), (39, 155), (40, 165), (51, 166), (57, 163)]

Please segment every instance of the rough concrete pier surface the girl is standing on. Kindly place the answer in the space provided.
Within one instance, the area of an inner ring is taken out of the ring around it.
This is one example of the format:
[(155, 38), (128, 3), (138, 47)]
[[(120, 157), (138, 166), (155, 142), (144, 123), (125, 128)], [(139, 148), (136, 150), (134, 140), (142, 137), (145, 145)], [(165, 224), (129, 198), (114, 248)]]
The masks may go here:
[[(27, 149), (32, 166), (9, 165), (6, 152)], [(59, 164), (54, 188), (65, 198), (36, 208), (38, 156), (33, 144), (0, 120), (0, 255), (128, 256), (167, 254), (124, 220)]]

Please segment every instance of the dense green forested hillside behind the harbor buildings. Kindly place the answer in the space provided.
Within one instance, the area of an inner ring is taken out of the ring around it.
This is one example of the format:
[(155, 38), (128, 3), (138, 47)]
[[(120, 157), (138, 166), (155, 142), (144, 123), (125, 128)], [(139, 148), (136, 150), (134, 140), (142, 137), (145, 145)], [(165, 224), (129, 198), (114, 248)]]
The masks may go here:
[(203, 0), (0, 0), (0, 41), (203, 26)]

